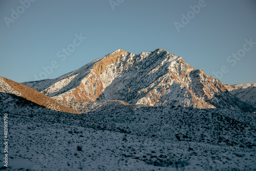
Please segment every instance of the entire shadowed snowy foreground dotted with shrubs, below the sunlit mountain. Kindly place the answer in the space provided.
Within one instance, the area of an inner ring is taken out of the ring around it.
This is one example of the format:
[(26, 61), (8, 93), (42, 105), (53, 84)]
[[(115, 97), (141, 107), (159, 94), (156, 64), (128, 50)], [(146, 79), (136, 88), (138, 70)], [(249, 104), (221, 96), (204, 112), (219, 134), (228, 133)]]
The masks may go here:
[(256, 169), (254, 113), (102, 102), (76, 115), (8, 93), (0, 103), (5, 170)]

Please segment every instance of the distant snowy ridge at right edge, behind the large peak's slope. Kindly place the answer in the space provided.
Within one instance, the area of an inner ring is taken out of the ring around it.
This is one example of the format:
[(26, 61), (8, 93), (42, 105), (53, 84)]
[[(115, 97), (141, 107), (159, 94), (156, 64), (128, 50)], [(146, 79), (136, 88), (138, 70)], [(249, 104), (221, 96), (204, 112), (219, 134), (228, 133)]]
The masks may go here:
[(256, 108), (256, 83), (241, 83), (233, 86), (235, 88), (230, 91), (231, 94)]

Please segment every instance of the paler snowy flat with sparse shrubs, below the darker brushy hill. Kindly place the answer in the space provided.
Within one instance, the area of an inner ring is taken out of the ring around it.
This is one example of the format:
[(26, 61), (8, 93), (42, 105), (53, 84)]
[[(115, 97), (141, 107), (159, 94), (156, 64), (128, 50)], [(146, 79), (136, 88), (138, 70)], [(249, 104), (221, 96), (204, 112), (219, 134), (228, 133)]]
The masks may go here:
[[(177, 140), (160, 141), (80, 127), (76, 126), (75, 121), (65, 124), (24, 116), (9, 117), (10, 170), (256, 168), (255, 149)], [(78, 151), (78, 146), (81, 151)], [(154, 166), (154, 161), (157, 161), (155, 165), (164, 161), (163, 167)]]

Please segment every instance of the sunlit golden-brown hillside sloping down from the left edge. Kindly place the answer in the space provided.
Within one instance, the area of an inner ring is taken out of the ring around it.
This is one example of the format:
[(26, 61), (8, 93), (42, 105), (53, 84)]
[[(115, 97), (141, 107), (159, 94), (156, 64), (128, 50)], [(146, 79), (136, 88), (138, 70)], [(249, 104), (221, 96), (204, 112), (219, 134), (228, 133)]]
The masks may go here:
[[(23, 84), (4, 77), (0, 77), (0, 95), (0, 103), (4, 103), (4, 101), (2, 101), (2, 97), (11, 95), (12, 97), (17, 98), (19, 96), (19, 99), (26, 101), (26, 104), (28, 101), (30, 101), (31, 103), (34, 102), (37, 105), (54, 111), (79, 114), (79, 112), (75, 111), (74, 109), (61, 105), (50, 97), (31, 89), (30, 87), (24, 86)], [(9, 102), (6, 103), (9, 104)]]

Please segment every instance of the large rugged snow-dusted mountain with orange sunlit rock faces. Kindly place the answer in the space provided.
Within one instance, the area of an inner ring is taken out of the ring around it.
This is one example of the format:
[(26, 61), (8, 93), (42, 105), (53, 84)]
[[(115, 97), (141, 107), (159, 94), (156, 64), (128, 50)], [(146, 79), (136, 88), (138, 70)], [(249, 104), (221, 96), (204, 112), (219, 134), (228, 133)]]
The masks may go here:
[(139, 55), (117, 50), (56, 79), (24, 82), (56, 100), (122, 100), (150, 106), (255, 109), (222, 84), (163, 49)]

